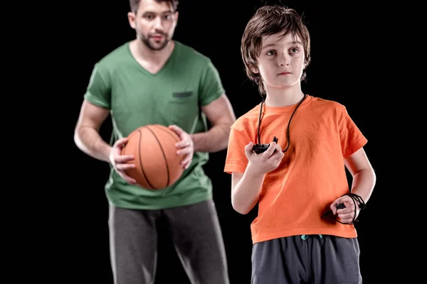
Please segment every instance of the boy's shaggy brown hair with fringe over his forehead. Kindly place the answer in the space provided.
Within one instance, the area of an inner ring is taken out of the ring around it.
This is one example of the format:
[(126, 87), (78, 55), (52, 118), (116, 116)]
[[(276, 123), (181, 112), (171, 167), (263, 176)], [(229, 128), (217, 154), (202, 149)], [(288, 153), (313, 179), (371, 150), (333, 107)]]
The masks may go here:
[[(310, 33), (307, 26), (302, 21), (302, 17), (294, 9), (286, 6), (262, 6), (255, 15), (249, 20), (243, 32), (241, 40), (241, 54), (245, 65), (246, 75), (255, 84), (261, 94), (265, 94), (263, 80), (259, 72), (255, 73), (251, 69), (258, 70), (257, 58), (260, 55), (263, 36), (291, 33), (293, 36), (299, 36), (304, 46), (305, 67), (310, 63)], [(307, 73), (302, 71), (301, 81), (305, 80)]]

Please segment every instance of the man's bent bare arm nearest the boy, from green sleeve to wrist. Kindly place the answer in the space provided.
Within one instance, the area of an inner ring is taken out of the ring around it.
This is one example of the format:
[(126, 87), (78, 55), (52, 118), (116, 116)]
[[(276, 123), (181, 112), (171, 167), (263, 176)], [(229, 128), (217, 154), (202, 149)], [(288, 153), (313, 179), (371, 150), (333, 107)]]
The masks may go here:
[(217, 152), (227, 148), (230, 126), (236, 121), (236, 115), (226, 94), (202, 107), (201, 110), (206, 114), (212, 127), (204, 133), (191, 134), (194, 151)]

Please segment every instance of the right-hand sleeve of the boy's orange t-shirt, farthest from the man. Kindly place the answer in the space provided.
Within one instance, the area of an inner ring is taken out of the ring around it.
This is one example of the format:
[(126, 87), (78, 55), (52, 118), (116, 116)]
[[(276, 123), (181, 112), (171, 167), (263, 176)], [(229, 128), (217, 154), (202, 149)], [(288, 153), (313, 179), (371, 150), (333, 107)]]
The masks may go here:
[(341, 138), (342, 156), (344, 158), (348, 158), (367, 143), (367, 138), (365, 138), (362, 131), (354, 124), (345, 107), (342, 108), (339, 119), (339, 136)]

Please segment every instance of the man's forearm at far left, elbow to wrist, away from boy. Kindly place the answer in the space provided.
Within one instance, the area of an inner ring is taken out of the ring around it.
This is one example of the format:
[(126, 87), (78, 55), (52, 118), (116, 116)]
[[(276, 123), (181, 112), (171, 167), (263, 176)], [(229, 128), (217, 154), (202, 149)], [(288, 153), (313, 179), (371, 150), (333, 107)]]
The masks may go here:
[(100, 134), (91, 127), (80, 127), (74, 134), (75, 145), (84, 153), (98, 160), (110, 163), (109, 155), (111, 146), (108, 145)]

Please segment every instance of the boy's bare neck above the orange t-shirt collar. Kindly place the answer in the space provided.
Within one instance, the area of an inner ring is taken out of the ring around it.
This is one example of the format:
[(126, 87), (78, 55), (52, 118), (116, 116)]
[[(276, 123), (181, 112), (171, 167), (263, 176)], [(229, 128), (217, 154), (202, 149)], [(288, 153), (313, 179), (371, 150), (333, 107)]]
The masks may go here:
[(286, 88), (267, 87), (266, 91), (265, 105), (268, 107), (291, 106), (292, 104), (299, 103), (304, 97), (300, 84)]

